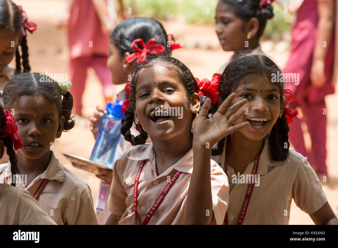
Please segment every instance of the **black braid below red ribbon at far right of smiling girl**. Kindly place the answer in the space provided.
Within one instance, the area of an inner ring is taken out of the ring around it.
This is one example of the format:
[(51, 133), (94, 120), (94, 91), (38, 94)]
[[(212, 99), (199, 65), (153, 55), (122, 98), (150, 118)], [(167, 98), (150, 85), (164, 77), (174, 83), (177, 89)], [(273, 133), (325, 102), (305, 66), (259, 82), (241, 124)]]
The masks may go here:
[[(274, 161), (283, 161), (289, 154), (289, 126), (286, 123), (285, 113), (277, 119), (277, 125), (274, 125), (269, 135), (270, 154)], [(287, 148), (285, 147), (287, 144)]]

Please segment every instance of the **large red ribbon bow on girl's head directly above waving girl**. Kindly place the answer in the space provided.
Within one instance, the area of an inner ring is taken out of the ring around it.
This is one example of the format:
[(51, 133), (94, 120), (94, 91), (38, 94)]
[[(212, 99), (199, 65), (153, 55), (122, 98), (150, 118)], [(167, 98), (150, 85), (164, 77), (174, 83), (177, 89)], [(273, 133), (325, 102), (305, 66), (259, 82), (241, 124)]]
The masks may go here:
[[(138, 48), (136, 46), (136, 43), (140, 44), (140, 46), (142, 47), (142, 49)], [(126, 57), (126, 61), (128, 63), (131, 63), (132, 61), (134, 61), (135, 59), (137, 59), (137, 63), (143, 63), (147, 60), (147, 53), (163, 53), (165, 50), (165, 47), (160, 45), (160, 44), (156, 44), (156, 39), (155, 38), (151, 38), (147, 44), (144, 45), (144, 41), (143, 39), (135, 39), (132, 43), (131, 43), (131, 48), (134, 49), (136, 52), (132, 53), (130, 55), (128, 55)]]

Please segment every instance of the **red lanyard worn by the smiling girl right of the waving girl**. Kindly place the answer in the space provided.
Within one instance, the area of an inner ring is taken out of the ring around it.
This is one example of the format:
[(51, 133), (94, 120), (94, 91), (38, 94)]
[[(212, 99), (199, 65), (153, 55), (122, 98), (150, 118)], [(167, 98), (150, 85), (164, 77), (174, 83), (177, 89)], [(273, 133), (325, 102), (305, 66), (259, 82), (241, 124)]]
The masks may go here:
[[(264, 147), (264, 143), (263, 143), (261, 151), (259, 152), (259, 155), (257, 156), (257, 158), (255, 160), (254, 168), (252, 168), (251, 175), (255, 176), (257, 174), (257, 166), (258, 166), (259, 158), (261, 157), (261, 153), (262, 153), (263, 147)], [(225, 163), (226, 163), (227, 151), (228, 151), (228, 146), (226, 145), (225, 146), (225, 161), (224, 161), (224, 172), (225, 172), (225, 174), (226, 174)], [(245, 194), (245, 199), (244, 199), (244, 202), (243, 202), (242, 211), (241, 211), (241, 214), (240, 214), (240, 216), (238, 218), (237, 225), (242, 225), (243, 224), (244, 217), (245, 217), (246, 211), (248, 210), (249, 201), (250, 201), (251, 194), (252, 194), (253, 190), (254, 190), (254, 183), (250, 183), (249, 187), (248, 187), (248, 191)], [(224, 217), (224, 225), (227, 225), (227, 224), (228, 224), (228, 215), (227, 215), (227, 212), (226, 212), (225, 213), (225, 217)]]

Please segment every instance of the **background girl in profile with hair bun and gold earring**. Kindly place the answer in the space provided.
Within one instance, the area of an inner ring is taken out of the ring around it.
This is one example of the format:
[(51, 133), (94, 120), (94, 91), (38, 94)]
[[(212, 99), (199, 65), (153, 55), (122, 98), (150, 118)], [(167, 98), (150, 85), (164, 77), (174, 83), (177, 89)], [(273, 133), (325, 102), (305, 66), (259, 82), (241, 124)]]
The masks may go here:
[[(273, 1), (273, 0), (272, 0)], [(236, 53), (251, 50), (262, 54), (259, 39), (266, 22), (273, 17), (270, 0), (219, 0), (216, 7), (216, 34), (224, 51)], [(225, 62), (218, 70), (222, 73)]]

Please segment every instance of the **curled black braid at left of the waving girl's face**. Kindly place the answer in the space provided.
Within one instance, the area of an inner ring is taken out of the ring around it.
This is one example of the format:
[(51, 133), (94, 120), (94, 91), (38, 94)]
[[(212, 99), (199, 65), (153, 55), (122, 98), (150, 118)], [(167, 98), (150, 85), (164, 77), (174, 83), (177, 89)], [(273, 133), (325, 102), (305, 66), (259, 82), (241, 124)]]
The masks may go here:
[(126, 110), (121, 123), (121, 134), (124, 136), (126, 141), (129, 141), (132, 145), (143, 145), (146, 142), (148, 134), (143, 130), (143, 128), (139, 131), (140, 135), (137, 135), (136, 137), (130, 132), (130, 128), (134, 124), (134, 110), (131, 106)]

